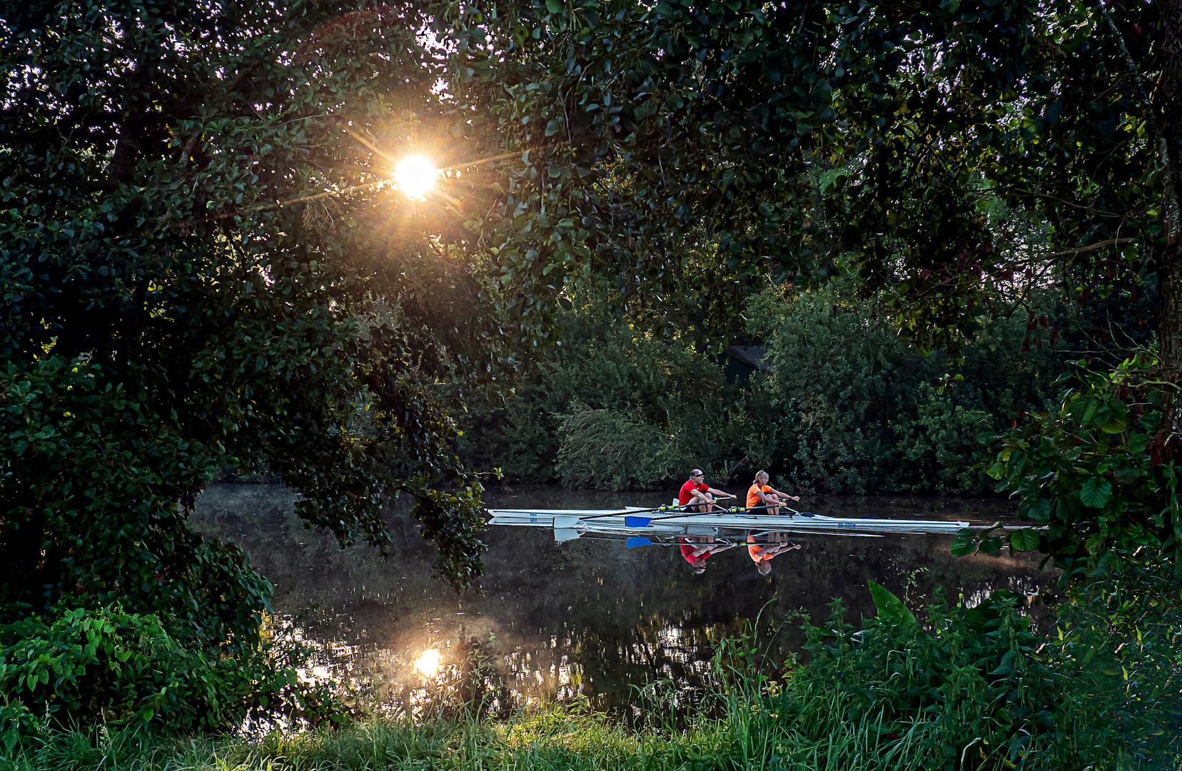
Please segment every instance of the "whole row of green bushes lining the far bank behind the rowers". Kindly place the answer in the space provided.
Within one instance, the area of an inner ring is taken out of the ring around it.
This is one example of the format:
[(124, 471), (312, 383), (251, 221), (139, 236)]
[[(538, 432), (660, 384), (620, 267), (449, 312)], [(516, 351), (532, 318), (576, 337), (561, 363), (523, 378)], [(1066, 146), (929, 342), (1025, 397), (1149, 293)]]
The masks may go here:
[(1044, 406), (1064, 349), (1080, 343), (1078, 309), (1053, 293), (1032, 306), (1057, 343), (1030, 344), (1028, 312), (999, 318), (949, 378), (948, 356), (900, 339), (889, 309), (846, 281), (768, 290), (745, 311), (765, 370), (739, 372), (580, 293), (558, 316), (563, 344), (514, 390), (466, 400), (459, 447), (473, 466), (582, 486), (668, 485), (702, 466), (720, 481), (766, 467), (812, 491), (981, 492), (992, 480), (978, 434)]

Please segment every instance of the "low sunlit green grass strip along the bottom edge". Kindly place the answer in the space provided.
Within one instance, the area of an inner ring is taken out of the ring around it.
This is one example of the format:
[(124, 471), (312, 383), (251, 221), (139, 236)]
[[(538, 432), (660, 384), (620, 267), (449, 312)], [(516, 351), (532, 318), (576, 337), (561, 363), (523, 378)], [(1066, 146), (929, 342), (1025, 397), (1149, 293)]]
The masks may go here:
[[(253, 740), (152, 740), (121, 732), (57, 732), (7, 763), (21, 771), (927, 767), (924, 759), (909, 750), (918, 743), (909, 738), (884, 740), (882, 726), (873, 720), (843, 726), (817, 741), (797, 731), (766, 731), (766, 717), (747, 712), (738, 721), (700, 724), (674, 734), (631, 732), (585, 711), (561, 707), (499, 725), (374, 720), (339, 731), (277, 732)], [(915, 730), (927, 728), (918, 725)]]

